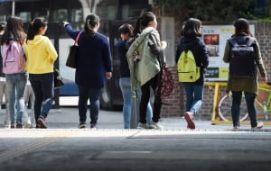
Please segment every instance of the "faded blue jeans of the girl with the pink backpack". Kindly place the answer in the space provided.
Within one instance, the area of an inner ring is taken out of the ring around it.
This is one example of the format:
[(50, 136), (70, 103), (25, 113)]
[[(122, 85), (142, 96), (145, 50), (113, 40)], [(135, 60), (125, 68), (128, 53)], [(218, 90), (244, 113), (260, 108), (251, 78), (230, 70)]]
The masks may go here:
[(24, 110), (23, 94), (27, 77), (26, 72), (5, 75), (11, 123), (22, 123)]

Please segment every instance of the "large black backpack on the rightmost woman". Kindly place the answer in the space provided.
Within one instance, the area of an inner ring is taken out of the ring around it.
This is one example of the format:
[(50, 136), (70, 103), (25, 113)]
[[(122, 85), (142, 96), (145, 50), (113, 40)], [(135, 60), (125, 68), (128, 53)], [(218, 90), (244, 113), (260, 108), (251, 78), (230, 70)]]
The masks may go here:
[(252, 46), (255, 38), (229, 39), (230, 58), (229, 76), (232, 78), (246, 78), (257, 76), (255, 50)]

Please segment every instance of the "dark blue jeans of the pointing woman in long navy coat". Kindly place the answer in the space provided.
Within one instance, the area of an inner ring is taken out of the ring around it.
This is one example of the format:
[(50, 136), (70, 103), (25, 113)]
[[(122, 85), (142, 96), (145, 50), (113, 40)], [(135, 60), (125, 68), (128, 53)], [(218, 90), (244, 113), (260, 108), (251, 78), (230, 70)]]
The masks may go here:
[(79, 87), (79, 121), (87, 121), (88, 101), (90, 111), (90, 124), (96, 124), (99, 112), (99, 97), (101, 88), (89, 88), (88, 86), (78, 85)]

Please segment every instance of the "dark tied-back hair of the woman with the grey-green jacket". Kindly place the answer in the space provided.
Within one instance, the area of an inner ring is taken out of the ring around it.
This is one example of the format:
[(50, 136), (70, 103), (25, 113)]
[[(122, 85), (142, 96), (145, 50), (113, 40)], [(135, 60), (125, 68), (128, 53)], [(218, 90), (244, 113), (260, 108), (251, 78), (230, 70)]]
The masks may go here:
[(134, 36), (137, 37), (143, 28), (148, 26), (150, 22), (154, 22), (155, 14), (152, 12), (145, 12), (142, 14), (135, 23)]

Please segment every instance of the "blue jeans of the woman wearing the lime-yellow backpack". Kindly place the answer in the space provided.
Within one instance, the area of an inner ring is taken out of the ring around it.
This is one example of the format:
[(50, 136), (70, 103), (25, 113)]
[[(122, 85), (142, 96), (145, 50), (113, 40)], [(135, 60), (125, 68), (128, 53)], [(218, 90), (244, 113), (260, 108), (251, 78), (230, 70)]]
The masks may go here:
[(186, 95), (186, 112), (199, 112), (203, 100), (203, 85), (183, 83)]

